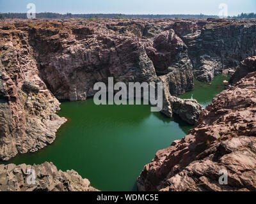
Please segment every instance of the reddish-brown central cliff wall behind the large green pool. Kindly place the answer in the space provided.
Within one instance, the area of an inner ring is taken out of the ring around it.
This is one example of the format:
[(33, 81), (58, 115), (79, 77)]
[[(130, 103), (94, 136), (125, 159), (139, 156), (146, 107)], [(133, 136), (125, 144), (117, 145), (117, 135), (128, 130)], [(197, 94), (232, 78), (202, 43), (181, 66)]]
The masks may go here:
[[(186, 45), (172, 29), (156, 31), (159, 34), (154, 38), (142, 39), (133, 31), (143, 29), (147, 21), (114, 22), (35, 22), (33, 29), (29, 29), (40, 77), (54, 96), (84, 100), (95, 93), (95, 82), (107, 82), (108, 77), (114, 77), (115, 82), (148, 82), (173, 70), (185, 83), (175, 83), (177, 89), (170, 89), (171, 94), (193, 89)], [(165, 24), (157, 22), (162, 30)], [(27, 29), (26, 24), (21, 26), (19, 29)], [(42, 31), (45, 27), (46, 31)], [(124, 27), (129, 34), (120, 32)], [(170, 77), (170, 83), (174, 80)]]

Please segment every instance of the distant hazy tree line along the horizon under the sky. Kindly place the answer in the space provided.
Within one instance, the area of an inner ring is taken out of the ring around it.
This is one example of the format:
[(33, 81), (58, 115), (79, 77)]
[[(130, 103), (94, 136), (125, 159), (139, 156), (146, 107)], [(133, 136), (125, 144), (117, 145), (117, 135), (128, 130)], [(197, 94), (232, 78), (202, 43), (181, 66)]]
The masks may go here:
[[(0, 18), (27, 18), (27, 13), (0, 13)], [(60, 14), (60, 13), (36, 13), (36, 18), (57, 18), (57, 19), (67, 19), (67, 18), (218, 18), (217, 15), (187, 15), (187, 14), (179, 14), (179, 15), (126, 15), (126, 14), (104, 14), (104, 13), (92, 13), (92, 14)], [(236, 17), (228, 17), (228, 18), (256, 18), (256, 13), (241, 13)]]

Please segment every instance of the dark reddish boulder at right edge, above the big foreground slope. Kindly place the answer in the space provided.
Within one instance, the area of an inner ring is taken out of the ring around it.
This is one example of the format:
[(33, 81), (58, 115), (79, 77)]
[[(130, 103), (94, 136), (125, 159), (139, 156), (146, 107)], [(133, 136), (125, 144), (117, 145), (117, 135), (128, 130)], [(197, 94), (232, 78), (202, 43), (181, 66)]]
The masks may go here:
[(239, 82), (239, 80), (241, 80), (241, 78), (246, 77), (248, 73), (251, 73), (253, 71), (256, 71), (256, 56), (248, 57), (239, 64), (235, 73), (229, 80), (230, 84), (236, 84), (237, 82)]

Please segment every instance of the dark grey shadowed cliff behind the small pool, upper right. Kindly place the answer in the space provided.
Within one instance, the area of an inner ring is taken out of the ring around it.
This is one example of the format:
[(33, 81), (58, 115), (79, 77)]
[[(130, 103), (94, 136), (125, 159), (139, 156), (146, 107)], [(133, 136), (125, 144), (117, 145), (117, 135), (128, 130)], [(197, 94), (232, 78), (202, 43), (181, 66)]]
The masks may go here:
[(182, 36), (195, 77), (209, 82), (221, 70), (256, 55), (256, 21), (208, 19), (202, 29)]

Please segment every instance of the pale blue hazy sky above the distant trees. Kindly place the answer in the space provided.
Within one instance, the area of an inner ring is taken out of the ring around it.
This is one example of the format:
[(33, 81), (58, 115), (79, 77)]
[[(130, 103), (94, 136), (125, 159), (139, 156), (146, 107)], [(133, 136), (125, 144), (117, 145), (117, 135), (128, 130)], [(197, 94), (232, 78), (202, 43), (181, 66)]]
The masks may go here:
[(256, 0), (0, 0), (0, 12), (26, 13), (28, 3), (35, 3), (36, 13), (218, 15), (221, 3), (228, 5), (228, 15), (256, 13)]

